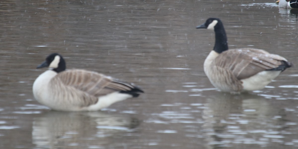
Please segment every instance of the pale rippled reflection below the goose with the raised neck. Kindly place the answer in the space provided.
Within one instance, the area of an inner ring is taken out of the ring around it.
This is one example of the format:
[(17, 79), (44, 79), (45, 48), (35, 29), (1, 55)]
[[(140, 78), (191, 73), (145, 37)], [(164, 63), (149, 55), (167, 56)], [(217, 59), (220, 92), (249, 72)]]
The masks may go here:
[[(289, 128), (283, 109), (276, 110), (257, 95), (219, 94), (208, 99), (203, 111), (207, 148), (236, 147), (249, 144), (251, 148), (270, 147), (282, 143), (298, 146)], [(289, 142), (288, 142), (289, 141)]]

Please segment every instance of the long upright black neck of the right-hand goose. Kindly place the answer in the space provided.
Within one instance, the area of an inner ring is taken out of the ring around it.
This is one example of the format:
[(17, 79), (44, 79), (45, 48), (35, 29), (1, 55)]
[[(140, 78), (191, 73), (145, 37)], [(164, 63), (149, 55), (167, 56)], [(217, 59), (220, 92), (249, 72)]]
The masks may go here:
[(226, 37), (226, 31), (224, 26), (219, 24), (218, 27), (214, 28), (215, 31), (215, 45), (213, 50), (217, 53), (224, 52), (228, 50), (228, 41)]

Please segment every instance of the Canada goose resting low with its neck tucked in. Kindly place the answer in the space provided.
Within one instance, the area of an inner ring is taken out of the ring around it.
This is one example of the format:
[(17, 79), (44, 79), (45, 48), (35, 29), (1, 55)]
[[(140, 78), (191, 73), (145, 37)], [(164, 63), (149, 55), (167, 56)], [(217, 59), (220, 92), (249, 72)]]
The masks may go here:
[(97, 111), (130, 97), (141, 89), (103, 74), (66, 69), (61, 55), (53, 53), (38, 68), (49, 67), (33, 83), (35, 99), (57, 111)]

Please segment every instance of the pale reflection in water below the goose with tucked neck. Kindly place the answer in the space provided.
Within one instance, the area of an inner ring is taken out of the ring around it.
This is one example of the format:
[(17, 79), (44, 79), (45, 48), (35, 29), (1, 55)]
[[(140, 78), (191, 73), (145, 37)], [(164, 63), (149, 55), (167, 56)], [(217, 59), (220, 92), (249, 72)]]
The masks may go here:
[(108, 138), (136, 131), (139, 120), (101, 112), (49, 111), (34, 118), (32, 143), (37, 148), (102, 148)]

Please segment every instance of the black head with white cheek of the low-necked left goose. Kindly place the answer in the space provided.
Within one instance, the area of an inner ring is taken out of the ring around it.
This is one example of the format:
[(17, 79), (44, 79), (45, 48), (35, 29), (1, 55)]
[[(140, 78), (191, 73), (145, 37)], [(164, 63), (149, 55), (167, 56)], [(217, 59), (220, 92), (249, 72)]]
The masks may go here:
[(53, 69), (55, 72), (62, 72), (66, 69), (66, 64), (61, 55), (59, 55), (58, 53), (52, 53), (48, 57), (46, 57), (46, 60), (38, 65), (36, 69), (43, 67)]

